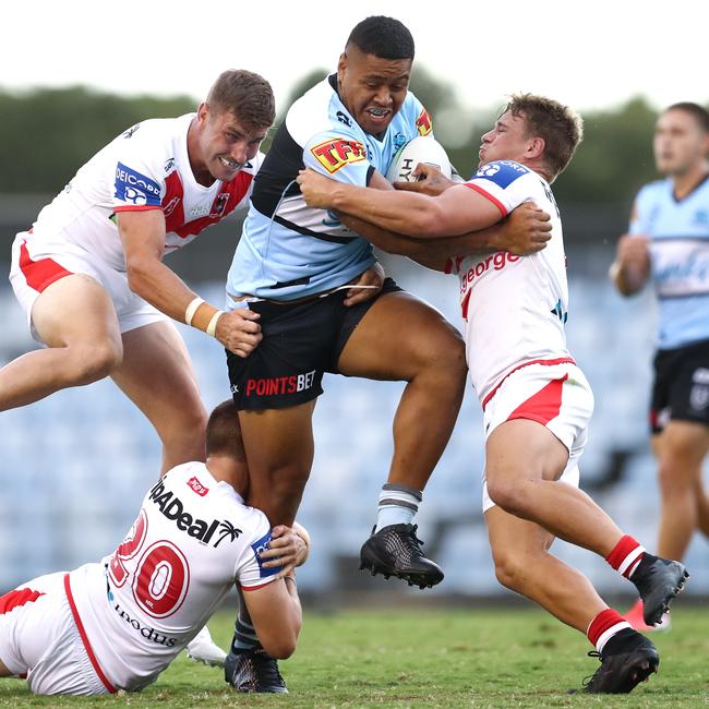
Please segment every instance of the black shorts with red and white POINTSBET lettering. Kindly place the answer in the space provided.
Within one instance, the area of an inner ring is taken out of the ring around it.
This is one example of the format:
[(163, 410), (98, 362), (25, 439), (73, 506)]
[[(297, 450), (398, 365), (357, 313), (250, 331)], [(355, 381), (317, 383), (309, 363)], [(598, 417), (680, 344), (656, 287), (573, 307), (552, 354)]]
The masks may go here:
[(247, 358), (227, 351), (229, 382), (238, 409), (283, 409), (323, 393), (324, 372), (337, 372), (339, 356), (366, 311), (384, 293), (401, 290), (392, 278), (381, 292), (357, 305), (344, 304), (347, 290), (300, 303), (261, 301), (263, 339)]

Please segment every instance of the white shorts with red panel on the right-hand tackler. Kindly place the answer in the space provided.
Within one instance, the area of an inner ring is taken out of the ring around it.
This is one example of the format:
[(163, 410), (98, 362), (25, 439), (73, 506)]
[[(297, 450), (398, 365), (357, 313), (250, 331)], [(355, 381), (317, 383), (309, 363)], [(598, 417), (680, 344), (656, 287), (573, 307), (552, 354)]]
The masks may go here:
[[(505, 421), (538, 421), (568, 449), (568, 461), (558, 480), (578, 488), (578, 459), (592, 413), (593, 393), (576, 364), (529, 364), (509, 374), (488, 401), (483, 413), (485, 440)], [(494, 506), (483, 471), (482, 512)]]

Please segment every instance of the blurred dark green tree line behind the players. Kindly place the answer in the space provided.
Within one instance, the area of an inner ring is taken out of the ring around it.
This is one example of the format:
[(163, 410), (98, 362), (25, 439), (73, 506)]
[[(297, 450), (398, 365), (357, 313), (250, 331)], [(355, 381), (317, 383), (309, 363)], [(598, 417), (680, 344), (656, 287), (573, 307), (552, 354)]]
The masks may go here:
[[(325, 74), (325, 70), (314, 70), (305, 75), (286, 106)], [(480, 135), (489, 130), (500, 107), (468, 116), (450, 85), (422, 67), (414, 70), (411, 87), (432, 113), (438, 140), (449, 143), (452, 161), (461, 175), (469, 176)], [(501, 96), (500, 106), (504, 101)], [(179, 116), (197, 104), (189, 96), (125, 97), (83, 86), (0, 91), (0, 193), (58, 192), (91, 155), (128, 127), (146, 118)], [(438, 125), (437, 113), (455, 120)], [(613, 110), (588, 112), (584, 118), (586, 136), (555, 185), (557, 199), (577, 205), (625, 203), (629, 208), (639, 185), (656, 176), (651, 137), (657, 112), (635, 97)], [(456, 131), (461, 127), (467, 140), (459, 145)]]

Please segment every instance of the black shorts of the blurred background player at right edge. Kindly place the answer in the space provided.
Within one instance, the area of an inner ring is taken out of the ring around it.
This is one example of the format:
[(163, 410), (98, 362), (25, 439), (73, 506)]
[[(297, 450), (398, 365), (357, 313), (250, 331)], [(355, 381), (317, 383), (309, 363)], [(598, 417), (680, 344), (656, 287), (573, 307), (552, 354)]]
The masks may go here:
[(659, 350), (654, 357), (652, 433), (662, 431), (670, 420), (709, 425), (709, 340)]

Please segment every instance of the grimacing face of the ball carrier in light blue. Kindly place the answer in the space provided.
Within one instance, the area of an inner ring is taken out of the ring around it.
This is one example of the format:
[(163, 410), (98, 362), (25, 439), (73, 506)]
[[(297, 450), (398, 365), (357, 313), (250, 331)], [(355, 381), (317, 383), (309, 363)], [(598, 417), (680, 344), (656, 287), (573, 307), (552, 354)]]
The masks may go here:
[(382, 59), (349, 45), (339, 58), (339, 97), (368, 133), (384, 132), (404, 104), (411, 59)]

